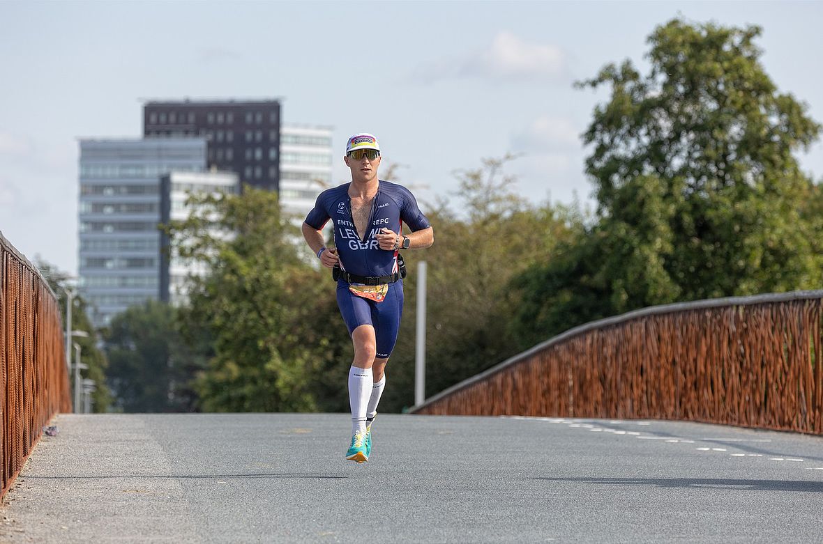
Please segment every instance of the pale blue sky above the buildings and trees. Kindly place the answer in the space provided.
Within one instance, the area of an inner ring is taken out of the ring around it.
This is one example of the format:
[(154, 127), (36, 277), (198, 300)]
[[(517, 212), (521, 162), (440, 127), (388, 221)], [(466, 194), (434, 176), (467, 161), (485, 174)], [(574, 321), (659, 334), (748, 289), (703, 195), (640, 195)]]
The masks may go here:
[[(335, 182), (372, 132), (424, 207), (508, 153), (529, 201), (586, 204), (580, 134), (608, 95), (574, 81), (647, 71), (678, 16), (760, 25), (766, 72), (823, 122), (823, 2), (0, 1), (0, 231), (77, 274), (77, 140), (140, 136), (146, 99), (279, 98), (283, 122), (333, 127)], [(823, 144), (798, 159), (823, 179)]]

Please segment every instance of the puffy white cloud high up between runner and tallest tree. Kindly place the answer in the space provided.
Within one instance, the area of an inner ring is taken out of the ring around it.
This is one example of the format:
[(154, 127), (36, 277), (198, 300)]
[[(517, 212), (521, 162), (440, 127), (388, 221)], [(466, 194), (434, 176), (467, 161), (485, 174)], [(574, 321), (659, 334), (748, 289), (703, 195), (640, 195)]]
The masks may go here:
[(565, 72), (565, 53), (559, 47), (527, 43), (503, 30), (488, 47), (480, 51), (418, 67), (414, 79), (426, 83), (462, 77), (493, 81), (545, 81), (557, 80)]

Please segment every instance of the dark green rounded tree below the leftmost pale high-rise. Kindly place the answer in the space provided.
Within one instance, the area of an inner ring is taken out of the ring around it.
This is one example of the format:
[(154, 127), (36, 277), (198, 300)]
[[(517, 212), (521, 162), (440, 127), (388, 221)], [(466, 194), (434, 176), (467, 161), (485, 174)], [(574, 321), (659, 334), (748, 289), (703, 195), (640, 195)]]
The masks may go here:
[(114, 316), (105, 332), (106, 373), (114, 408), (123, 412), (190, 412), (198, 358), (180, 339), (174, 308), (146, 301)]

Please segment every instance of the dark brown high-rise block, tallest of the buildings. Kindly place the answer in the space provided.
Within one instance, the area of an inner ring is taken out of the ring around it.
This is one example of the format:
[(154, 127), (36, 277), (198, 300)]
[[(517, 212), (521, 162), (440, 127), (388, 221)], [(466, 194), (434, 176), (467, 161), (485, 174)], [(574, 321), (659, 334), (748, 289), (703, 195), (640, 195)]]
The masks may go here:
[(208, 168), (234, 172), (253, 187), (280, 188), (276, 99), (146, 102), (143, 136), (202, 136), (208, 141)]

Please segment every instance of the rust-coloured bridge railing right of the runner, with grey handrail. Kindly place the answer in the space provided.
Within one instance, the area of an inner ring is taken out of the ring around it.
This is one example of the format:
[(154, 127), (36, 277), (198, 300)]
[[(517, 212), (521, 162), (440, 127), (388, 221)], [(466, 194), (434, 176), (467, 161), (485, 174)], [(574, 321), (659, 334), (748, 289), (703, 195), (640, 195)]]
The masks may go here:
[(823, 434), (823, 291), (671, 304), (579, 326), (421, 414), (649, 418)]

